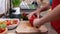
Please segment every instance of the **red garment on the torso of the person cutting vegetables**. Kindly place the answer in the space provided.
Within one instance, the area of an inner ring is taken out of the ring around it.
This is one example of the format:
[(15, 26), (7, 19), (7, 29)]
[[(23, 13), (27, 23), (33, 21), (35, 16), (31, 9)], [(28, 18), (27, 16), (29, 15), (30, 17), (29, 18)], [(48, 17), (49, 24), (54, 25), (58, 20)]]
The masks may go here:
[[(53, 0), (52, 1), (52, 10), (59, 4), (60, 4), (60, 0)], [(60, 18), (52, 21), (51, 24), (54, 27), (54, 29), (58, 32), (58, 34), (60, 34)]]

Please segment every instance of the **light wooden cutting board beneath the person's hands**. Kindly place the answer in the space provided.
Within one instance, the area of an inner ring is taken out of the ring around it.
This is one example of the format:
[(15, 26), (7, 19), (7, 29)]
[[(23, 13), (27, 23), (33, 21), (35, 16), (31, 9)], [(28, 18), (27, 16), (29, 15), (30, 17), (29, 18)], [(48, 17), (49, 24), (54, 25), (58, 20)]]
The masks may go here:
[[(17, 27), (16, 32), (17, 32), (17, 34), (41, 34), (42, 32), (43, 33), (47, 32), (47, 28), (45, 26), (43, 26), (42, 28), (32, 27), (31, 24), (29, 23), (29, 21), (20, 21), (20, 24)], [(44, 30), (46, 30), (46, 31), (44, 31)]]

